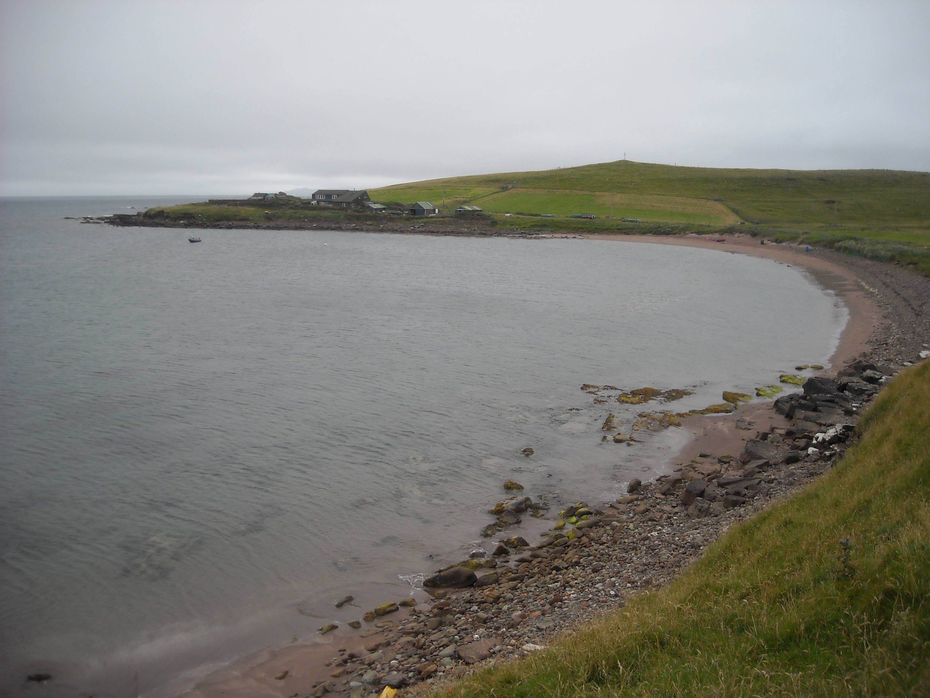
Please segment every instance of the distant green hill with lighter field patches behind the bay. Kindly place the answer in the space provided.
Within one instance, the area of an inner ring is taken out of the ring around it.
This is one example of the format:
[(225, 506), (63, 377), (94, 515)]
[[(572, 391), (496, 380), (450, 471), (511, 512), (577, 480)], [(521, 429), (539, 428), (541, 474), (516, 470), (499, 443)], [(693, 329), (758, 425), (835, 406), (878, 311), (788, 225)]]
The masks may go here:
[[(501, 185), (515, 188), (502, 192)], [(425, 199), (440, 205), (444, 190), (446, 210), (471, 203), (495, 212), (607, 216), (613, 196), (615, 218), (711, 225), (745, 221), (797, 232), (930, 239), (926, 172), (685, 168), (619, 160), (397, 184), (369, 194), (378, 201)]]

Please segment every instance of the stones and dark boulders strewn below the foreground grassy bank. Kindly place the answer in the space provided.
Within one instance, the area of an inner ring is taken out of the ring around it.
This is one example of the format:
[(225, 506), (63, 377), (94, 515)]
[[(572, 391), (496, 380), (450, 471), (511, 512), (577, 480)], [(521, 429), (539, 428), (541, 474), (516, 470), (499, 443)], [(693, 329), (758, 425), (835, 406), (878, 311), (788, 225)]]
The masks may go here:
[[(371, 613), (376, 623), (362, 633), (364, 651), (340, 650), (327, 663), (329, 678), (308, 695), (366, 698), (385, 686), (434, 688), (543, 649), (631, 594), (667, 584), (731, 526), (836, 464), (858, 412), (896, 371), (857, 362), (841, 373), (838, 381), (810, 378), (803, 392), (778, 398), (772, 408), (780, 425), (756, 433), (739, 454), (702, 453), (654, 482), (634, 479), (617, 502), (561, 511), (538, 544), (512, 537), (489, 560), (463, 561), (427, 578), (429, 608), (414, 606), (396, 623), (377, 621), (397, 605)], [(516, 496), (492, 513), (532, 506)]]

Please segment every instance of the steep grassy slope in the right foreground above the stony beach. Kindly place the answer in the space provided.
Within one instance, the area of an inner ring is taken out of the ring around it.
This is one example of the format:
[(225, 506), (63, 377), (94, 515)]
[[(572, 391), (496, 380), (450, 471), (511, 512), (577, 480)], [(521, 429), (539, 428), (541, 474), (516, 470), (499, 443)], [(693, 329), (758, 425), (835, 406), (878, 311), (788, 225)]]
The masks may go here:
[(930, 361), (863, 424), (826, 477), (670, 586), (453, 693), (930, 695)]

